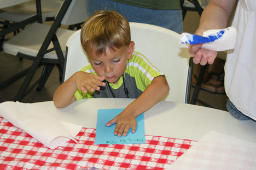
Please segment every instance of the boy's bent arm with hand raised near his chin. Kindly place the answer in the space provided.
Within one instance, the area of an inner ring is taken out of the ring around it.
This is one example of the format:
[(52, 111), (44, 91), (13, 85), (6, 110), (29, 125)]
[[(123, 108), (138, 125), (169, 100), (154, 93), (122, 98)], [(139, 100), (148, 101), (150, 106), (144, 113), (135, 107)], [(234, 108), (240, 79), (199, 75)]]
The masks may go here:
[(54, 105), (57, 108), (63, 108), (75, 101), (74, 93), (77, 89), (84, 93), (88, 90), (100, 90), (99, 86), (105, 86), (106, 83), (102, 82), (104, 77), (90, 74), (83, 71), (75, 72), (67, 81), (63, 82), (54, 93)]

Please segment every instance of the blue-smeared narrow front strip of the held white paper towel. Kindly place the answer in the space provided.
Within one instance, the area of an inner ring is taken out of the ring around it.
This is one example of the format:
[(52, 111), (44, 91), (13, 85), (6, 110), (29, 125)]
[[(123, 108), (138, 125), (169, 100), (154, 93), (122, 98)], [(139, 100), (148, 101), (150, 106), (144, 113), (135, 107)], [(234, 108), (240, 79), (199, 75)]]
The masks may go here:
[[(229, 30), (229, 29), (227, 29), (227, 30)], [(222, 30), (217, 33), (208, 35), (207, 37), (202, 37), (202, 36), (195, 35), (195, 34), (186, 34), (185, 38), (181, 38), (181, 41), (183, 44), (189, 43), (190, 45), (211, 43), (211, 42), (221, 38), (225, 32), (226, 32), (225, 30)]]

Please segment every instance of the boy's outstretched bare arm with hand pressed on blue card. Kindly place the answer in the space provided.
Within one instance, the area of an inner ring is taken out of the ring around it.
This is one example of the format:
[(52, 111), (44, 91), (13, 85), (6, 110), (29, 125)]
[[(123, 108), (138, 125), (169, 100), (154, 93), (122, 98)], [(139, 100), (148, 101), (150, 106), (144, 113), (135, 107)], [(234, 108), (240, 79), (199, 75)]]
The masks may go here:
[(123, 112), (110, 120), (106, 126), (117, 123), (114, 135), (119, 137), (122, 136), (122, 133), (123, 136), (126, 136), (130, 128), (132, 128), (132, 133), (134, 133), (137, 126), (136, 117), (157, 104), (168, 92), (169, 86), (166, 78), (164, 76), (155, 77), (144, 92), (127, 106)]

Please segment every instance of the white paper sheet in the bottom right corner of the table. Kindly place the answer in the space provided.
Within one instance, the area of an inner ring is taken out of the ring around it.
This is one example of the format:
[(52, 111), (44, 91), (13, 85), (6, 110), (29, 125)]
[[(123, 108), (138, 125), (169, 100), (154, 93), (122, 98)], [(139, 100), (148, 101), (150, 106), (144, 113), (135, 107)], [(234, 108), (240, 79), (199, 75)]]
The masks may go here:
[(241, 169), (256, 167), (256, 143), (211, 131), (174, 161), (170, 169)]

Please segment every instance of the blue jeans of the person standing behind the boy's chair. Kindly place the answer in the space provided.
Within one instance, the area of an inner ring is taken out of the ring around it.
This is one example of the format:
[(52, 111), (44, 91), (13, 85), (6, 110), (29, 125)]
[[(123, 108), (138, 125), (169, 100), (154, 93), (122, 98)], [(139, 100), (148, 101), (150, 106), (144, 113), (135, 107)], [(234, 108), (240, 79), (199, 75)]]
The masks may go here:
[(86, 8), (89, 16), (99, 10), (116, 10), (129, 22), (148, 23), (179, 34), (183, 32), (181, 10), (153, 10), (110, 0), (86, 0)]

